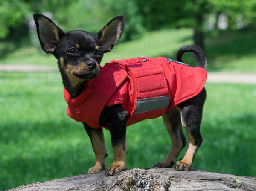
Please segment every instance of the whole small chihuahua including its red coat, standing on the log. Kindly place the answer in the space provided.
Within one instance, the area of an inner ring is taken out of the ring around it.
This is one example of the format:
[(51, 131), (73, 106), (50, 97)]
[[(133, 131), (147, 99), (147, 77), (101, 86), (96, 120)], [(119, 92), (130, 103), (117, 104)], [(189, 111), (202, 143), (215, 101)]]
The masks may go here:
[[(52, 53), (64, 85), (67, 114), (84, 128), (96, 157), (88, 173), (105, 170), (107, 155), (102, 127), (109, 130), (114, 161), (106, 175), (126, 169), (126, 127), (144, 119), (163, 117), (171, 138), (171, 149), (154, 167), (189, 171), (203, 139), (200, 124), (206, 90), (206, 58), (198, 46), (184, 46), (177, 61), (169, 58), (138, 57), (117, 60), (100, 66), (103, 54), (119, 41), (125, 17), (114, 17), (95, 34), (74, 30), (65, 33), (49, 18), (34, 14), (38, 38), (44, 52)], [(198, 67), (182, 62), (185, 52), (194, 52)], [(186, 145), (185, 156), (176, 157)]]

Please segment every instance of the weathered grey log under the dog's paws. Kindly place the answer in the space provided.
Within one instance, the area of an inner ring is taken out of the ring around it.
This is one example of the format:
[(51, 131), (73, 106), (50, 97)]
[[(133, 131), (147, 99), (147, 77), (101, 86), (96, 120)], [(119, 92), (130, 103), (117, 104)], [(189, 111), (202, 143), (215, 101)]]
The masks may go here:
[(256, 178), (192, 169), (149, 168), (106, 177), (105, 171), (23, 185), (8, 191), (255, 191)]

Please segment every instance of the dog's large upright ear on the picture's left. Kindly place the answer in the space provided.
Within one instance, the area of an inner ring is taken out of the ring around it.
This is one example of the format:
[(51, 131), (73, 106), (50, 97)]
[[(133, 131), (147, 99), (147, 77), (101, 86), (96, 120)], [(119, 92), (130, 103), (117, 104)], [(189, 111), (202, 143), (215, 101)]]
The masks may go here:
[(33, 17), (42, 49), (46, 53), (54, 53), (64, 32), (42, 14), (34, 14)]

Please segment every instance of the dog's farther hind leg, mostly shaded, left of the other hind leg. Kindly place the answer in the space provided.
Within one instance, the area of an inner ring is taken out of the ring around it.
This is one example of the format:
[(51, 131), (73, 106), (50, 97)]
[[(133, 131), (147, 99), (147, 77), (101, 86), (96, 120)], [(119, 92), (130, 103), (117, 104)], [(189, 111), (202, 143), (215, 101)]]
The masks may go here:
[(172, 141), (171, 149), (162, 162), (158, 162), (154, 167), (171, 168), (175, 164), (175, 159), (186, 145), (186, 139), (182, 132), (180, 112), (174, 108), (163, 114), (163, 122)]

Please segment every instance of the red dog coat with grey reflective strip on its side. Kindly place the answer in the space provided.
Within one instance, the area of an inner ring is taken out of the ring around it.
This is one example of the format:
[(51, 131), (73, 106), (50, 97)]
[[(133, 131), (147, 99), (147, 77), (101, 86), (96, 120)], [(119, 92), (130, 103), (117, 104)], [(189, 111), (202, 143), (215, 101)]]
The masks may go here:
[[(105, 106), (121, 104), (128, 112), (127, 125), (162, 116), (168, 110), (200, 93), (206, 70), (166, 58), (116, 60), (100, 67), (97, 78), (85, 83), (85, 90), (70, 98), (64, 89), (67, 114), (78, 122), (99, 128)], [(105, 127), (108, 129), (107, 127)]]

